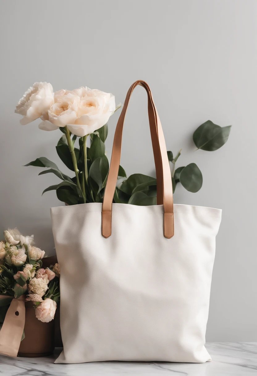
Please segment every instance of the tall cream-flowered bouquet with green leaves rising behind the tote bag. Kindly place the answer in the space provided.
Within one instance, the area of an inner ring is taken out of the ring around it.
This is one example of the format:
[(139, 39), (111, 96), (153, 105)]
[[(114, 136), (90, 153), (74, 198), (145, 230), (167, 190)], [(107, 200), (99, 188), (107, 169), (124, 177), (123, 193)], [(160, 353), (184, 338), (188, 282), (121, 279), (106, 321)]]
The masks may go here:
[[(56, 146), (57, 154), (75, 174), (68, 176), (49, 159), (36, 158), (26, 166), (48, 168), (39, 175), (53, 173), (61, 180), (46, 188), (43, 193), (55, 190), (58, 199), (68, 205), (103, 201), (109, 171), (104, 144), (108, 135), (107, 121), (119, 107), (121, 104), (115, 105), (115, 97), (111, 93), (87, 87), (53, 92), (50, 83), (36, 82), (24, 93), (15, 110), (17, 114), (23, 115), (20, 123), (28, 124), (41, 118), (39, 129), (59, 129), (63, 135)], [(201, 124), (193, 134), (197, 150), (219, 149), (227, 142), (230, 129), (231, 126), (221, 127), (210, 120)], [(199, 191), (203, 176), (197, 164), (189, 163), (175, 168), (181, 149), (177, 155), (171, 151), (167, 153), (172, 166), (173, 192), (178, 183), (187, 191)], [(124, 168), (120, 166), (114, 202), (156, 205), (155, 177), (141, 173), (127, 177)]]

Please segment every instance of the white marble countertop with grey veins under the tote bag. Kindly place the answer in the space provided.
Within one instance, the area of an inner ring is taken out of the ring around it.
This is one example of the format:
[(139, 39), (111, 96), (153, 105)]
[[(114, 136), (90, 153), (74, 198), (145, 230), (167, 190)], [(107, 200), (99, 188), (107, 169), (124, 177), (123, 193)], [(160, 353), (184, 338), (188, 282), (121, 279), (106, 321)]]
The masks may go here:
[(101, 375), (188, 375), (188, 376), (257, 376), (257, 342), (207, 343), (212, 362), (95, 362), (54, 364), (60, 353), (44, 358), (9, 358), (0, 355), (0, 375), (4, 376), (101, 376)]

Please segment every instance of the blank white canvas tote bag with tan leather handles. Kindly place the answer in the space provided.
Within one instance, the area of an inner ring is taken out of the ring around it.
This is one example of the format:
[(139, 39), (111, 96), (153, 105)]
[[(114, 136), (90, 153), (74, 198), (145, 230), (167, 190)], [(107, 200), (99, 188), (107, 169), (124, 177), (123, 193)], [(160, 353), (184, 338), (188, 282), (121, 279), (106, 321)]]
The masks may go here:
[[(148, 94), (157, 205), (112, 203), (133, 89)], [(173, 205), (165, 140), (149, 86), (130, 87), (103, 203), (51, 208), (60, 264), (63, 352), (56, 363), (206, 362), (204, 347), (221, 210)]]

